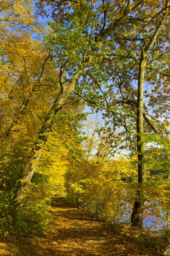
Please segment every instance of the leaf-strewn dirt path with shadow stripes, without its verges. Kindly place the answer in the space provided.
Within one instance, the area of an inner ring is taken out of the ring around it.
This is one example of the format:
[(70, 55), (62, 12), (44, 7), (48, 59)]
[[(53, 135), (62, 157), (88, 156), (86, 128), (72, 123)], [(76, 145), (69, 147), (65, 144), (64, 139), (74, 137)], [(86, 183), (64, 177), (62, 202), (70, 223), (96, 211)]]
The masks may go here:
[(100, 222), (63, 201), (56, 200), (53, 206), (58, 227), (54, 255), (113, 255), (112, 238)]

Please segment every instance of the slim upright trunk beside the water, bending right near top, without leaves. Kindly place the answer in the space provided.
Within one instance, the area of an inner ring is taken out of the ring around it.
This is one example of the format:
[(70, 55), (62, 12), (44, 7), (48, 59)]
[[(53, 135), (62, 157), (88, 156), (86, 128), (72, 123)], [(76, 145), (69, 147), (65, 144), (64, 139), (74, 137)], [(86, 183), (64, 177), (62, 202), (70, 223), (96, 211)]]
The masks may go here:
[(143, 206), (144, 206), (144, 195), (142, 186), (146, 182), (146, 170), (145, 170), (145, 163), (144, 163), (144, 141), (143, 141), (143, 134), (144, 134), (144, 122), (143, 122), (143, 100), (144, 100), (144, 71), (147, 65), (147, 54), (150, 49), (153, 47), (153, 44), (156, 41), (156, 38), (159, 35), (161, 27), (164, 24), (167, 14), (167, 5), (168, 1), (165, 1), (164, 9), (166, 10), (163, 12), (161, 10), (162, 17), (157, 24), (156, 30), (153, 33), (150, 41), (147, 45), (142, 49), (139, 61), (139, 75), (138, 75), (138, 96), (137, 96), (137, 105), (136, 105), (136, 133), (137, 133), (137, 151), (138, 151), (138, 183), (139, 183), (139, 191), (137, 191), (136, 201), (133, 207), (133, 212), (131, 216), (131, 223), (136, 226), (141, 227), (143, 222)]

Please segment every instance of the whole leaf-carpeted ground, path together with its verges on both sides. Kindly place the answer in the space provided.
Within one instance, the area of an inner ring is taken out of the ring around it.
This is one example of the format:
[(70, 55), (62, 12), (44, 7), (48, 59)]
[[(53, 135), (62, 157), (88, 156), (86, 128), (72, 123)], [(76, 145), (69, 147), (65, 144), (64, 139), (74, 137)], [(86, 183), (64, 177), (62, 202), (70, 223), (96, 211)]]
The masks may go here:
[(129, 226), (106, 227), (63, 198), (51, 205), (44, 237), (0, 243), (2, 256), (162, 256), (162, 241)]

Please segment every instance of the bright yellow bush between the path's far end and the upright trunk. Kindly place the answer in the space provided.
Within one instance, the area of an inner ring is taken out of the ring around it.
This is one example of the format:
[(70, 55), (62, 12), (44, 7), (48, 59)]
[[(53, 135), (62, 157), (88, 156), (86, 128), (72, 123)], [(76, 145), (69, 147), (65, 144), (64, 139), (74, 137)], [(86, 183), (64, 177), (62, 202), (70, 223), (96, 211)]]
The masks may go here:
[(66, 174), (66, 191), (78, 206), (86, 205), (97, 218), (119, 222), (127, 207), (127, 183), (137, 172), (125, 158), (111, 163), (97, 160), (74, 162)]

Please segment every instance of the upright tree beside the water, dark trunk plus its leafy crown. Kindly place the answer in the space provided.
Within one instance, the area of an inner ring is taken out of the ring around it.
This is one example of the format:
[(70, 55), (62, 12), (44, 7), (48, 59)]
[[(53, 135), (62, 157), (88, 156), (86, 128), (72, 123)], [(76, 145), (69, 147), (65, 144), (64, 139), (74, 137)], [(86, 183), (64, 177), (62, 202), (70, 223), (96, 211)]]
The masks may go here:
[[(168, 130), (164, 129), (166, 119), (164, 119), (164, 125), (160, 127), (159, 119), (149, 114), (149, 108), (152, 106), (153, 115), (156, 113), (159, 117), (164, 114), (166, 118), (169, 113), (169, 91), (167, 89), (169, 80), (167, 79), (166, 70), (169, 65), (167, 59), (170, 51), (167, 34), (169, 28), (168, 1), (162, 1), (161, 5), (157, 2), (153, 3), (153, 1), (139, 3), (139, 9), (140, 11), (136, 12), (136, 23), (130, 23), (130, 26), (124, 27), (122, 31), (116, 31), (117, 37), (110, 38), (108, 49), (102, 58), (103, 63), (101, 61), (99, 67), (91, 68), (91, 73), (88, 71), (88, 82), (91, 83), (92, 88), (90, 93), (88, 90), (86, 93), (81, 88), (75, 93), (85, 99), (91, 106), (94, 104), (97, 108), (109, 111), (108, 116), (116, 123), (116, 127), (122, 125), (125, 128), (126, 137), (130, 144), (130, 131), (132, 131), (133, 126), (129, 126), (131, 122), (127, 121), (127, 118), (133, 118), (136, 122), (139, 189), (131, 222), (141, 227), (144, 209), (143, 186), (146, 182), (144, 121), (150, 129), (160, 134), (161, 137), (168, 133)], [(115, 41), (117, 42), (116, 49), (113, 43)], [(151, 70), (152, 72), (154, 70), (155, 73), (149, 73)], [(105, 73), (107, 76), (105, 76)], [(146, 73), (145, 78), (144, 73)], [(161, 81), (162, 76), (167, 79), (164, 83)], [(103, 77), (106, 77), (106, 79), (104, 80)], [(104, 81), (105, 87), (103, 87)], [(151, 87), (149, 90), (146, 84), (147, 81), (149, 81)], [(84, 82), (86, 83), (86, 81)], [(136, 84), (137, 90), (135, 88)], [(146, 101), (147, 98), (149, 99)], [(165, 102), (159, 100), (162, 98), (166, 99)], [(167, 106), (167, 111), (165, 109), (162, 111), (162, 104)], [(119, 111), (116, 107), (118, 105)]]

